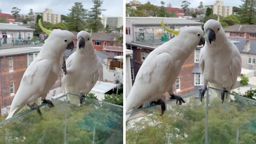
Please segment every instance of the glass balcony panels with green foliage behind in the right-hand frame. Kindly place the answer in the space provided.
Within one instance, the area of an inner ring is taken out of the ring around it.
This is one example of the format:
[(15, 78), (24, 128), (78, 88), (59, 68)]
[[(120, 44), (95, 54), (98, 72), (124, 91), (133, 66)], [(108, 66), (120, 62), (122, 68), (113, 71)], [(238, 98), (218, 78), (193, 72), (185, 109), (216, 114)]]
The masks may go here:
[(220, 91), (209, 88), (184, 96), (185, 104), (166, 101), (133, 111), (126, 123), (126, 143), (256, 143), (256, 101), (230, 94), (221, 103)]

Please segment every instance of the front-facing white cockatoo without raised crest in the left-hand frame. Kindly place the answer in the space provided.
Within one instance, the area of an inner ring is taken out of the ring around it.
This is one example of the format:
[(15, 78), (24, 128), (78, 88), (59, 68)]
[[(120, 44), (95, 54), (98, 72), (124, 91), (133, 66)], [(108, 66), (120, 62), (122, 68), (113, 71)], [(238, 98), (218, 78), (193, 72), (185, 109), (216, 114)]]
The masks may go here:
[(68, 57), (66, 64), (66, 68), (63, 68), (66, 75), (62, 78), (62, 92), (79, 95), (82, 105), (84, 95), (91, 91), (98, 79), (103, 79), (102, 64), (89, 33), (80, 31), (77, 34), (76, 52)]

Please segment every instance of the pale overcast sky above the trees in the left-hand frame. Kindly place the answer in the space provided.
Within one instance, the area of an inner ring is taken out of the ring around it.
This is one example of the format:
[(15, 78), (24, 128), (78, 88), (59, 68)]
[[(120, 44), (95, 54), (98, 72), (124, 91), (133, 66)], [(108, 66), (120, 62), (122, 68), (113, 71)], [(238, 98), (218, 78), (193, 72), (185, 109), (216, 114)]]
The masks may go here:
[[(75, 2), (82, 2), (85, 9), (93, 7), (92, 0), (0, 0), (0, 9), (2, 13), (11, 14), (12, 7), (18, 7), (21, 9), (20, 14), (27, 14), (29, 9), (33, 9), (33, 12), (43, 12), (47, 8), (52, 9), (54, 14), (67, 15)], [(102, 12), (105, 17), (123, 17), (122, 0), (103, 0), (101, 8), (106, 9)]]

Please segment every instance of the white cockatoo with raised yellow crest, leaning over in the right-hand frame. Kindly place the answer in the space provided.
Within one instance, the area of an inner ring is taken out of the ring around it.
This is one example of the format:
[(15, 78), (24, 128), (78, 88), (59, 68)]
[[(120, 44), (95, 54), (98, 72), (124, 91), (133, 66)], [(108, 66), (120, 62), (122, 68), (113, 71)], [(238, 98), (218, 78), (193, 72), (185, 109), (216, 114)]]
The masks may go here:
[(180, 105), (181, 101), (185, 102), (181, 97), (173, 94), (173, 84), (191, 52), (198, 44), (204, 44), (203, 30), (199, 27), (170, 30), (164, 26), (163, 21), (161, 25), (175, 37), (158, 46), (143, 61), (126, 99), (126, 113), (139, 108), (145, 102), (155, 100), (154, 103), (161, 105), (161, 115), (163, 115), (165, 103), (160, 98), (165, 92), (169, 92), (171, 99), (177, 99)]

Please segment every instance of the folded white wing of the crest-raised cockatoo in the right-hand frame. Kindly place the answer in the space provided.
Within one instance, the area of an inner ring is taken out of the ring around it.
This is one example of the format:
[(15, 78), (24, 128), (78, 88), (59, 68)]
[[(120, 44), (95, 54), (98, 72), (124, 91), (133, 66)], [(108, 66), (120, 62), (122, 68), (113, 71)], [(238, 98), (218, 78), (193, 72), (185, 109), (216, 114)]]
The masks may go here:
[(137, 109), (143, 102), (154, 99), (156, 94), (163, 94), (163, 89), (166, 89), (165, 85), (168, 85), (172, 75), (173, 60), (168, 53), (149, 55), (144, 62), (145, 65), (142, 64), (139, 69), (135, 83), (127, 97), (126, 112)]

